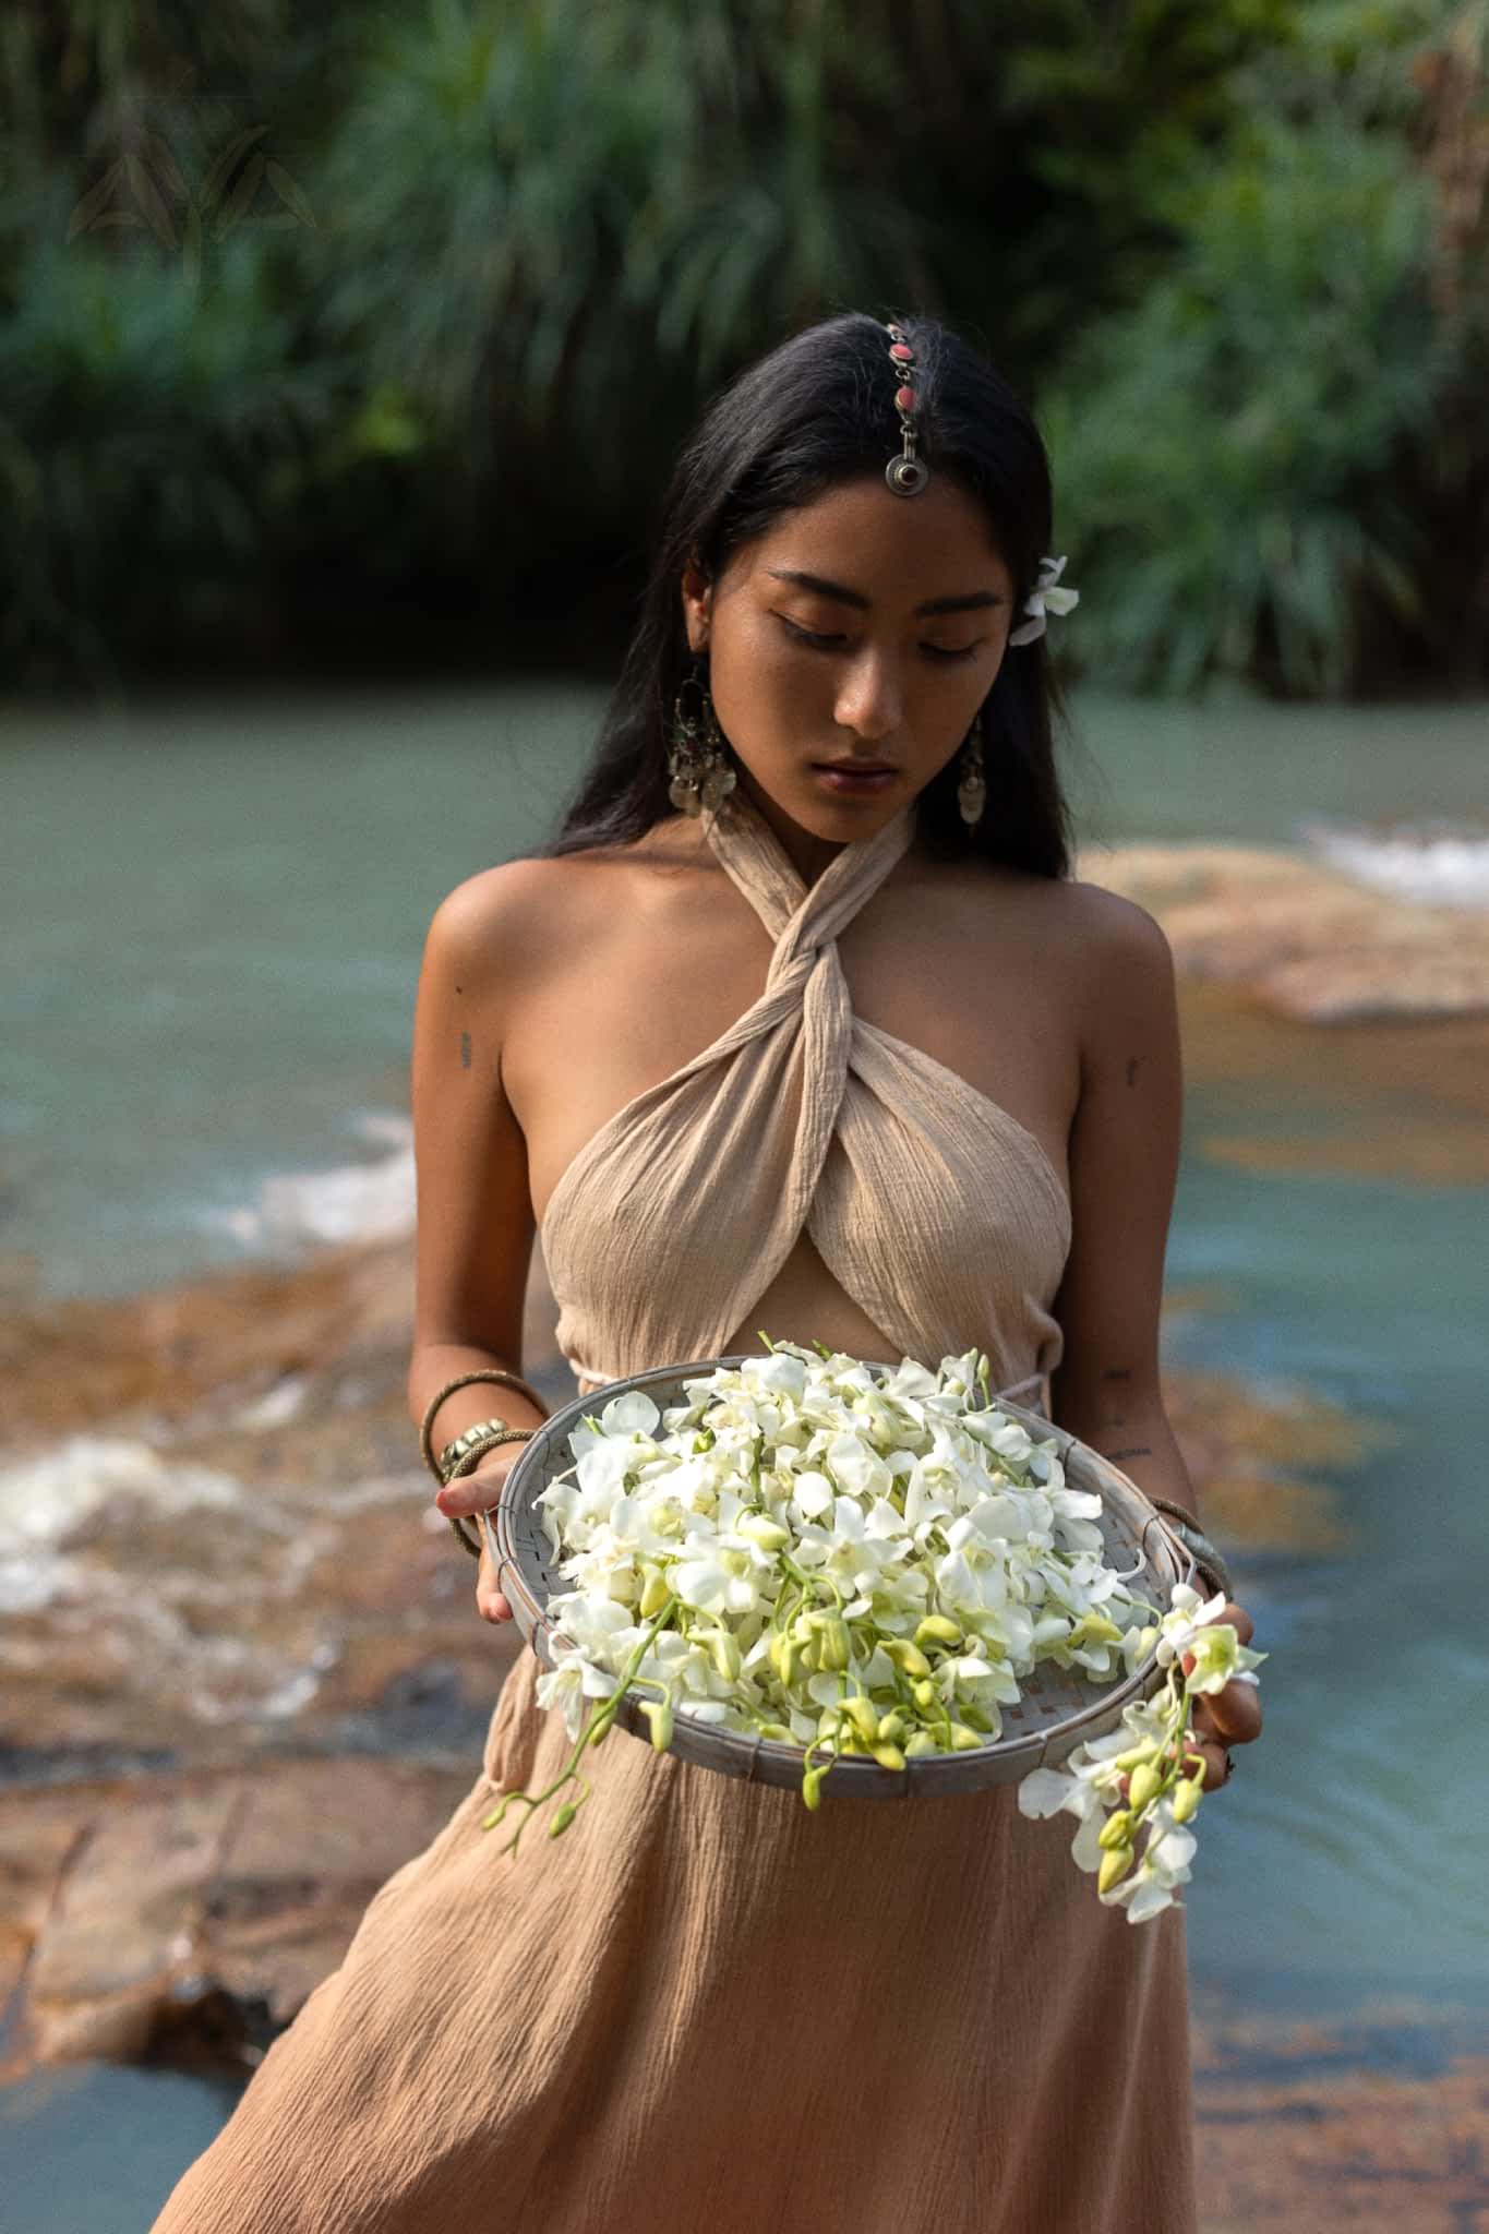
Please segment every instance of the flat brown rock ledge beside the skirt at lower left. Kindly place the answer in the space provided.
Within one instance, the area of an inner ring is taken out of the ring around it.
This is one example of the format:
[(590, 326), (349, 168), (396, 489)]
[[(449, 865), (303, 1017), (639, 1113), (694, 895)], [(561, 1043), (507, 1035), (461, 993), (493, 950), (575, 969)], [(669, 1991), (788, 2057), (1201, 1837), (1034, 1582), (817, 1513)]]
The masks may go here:
[(330, 1758), (11, 1794), (16, 2055), (250, 2062), (469, 1783)]

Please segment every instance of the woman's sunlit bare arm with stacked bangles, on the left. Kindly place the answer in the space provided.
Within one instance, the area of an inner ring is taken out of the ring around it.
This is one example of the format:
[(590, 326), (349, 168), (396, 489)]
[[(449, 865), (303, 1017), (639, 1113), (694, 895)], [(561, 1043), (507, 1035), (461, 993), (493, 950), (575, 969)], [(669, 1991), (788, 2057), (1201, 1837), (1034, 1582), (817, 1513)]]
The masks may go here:
[[(409, 1416), (462, 1372), (522, 1372), (522, 1302), (534, 1247), (527, 1142), (502, 1088), (502, 1032), (536, 936), (538, 862), (505, 862), (458, 885), (424, 941), (413, 1012), (413, 1157), (417, 1175), (415, 1314)], [(433, 1419), (435, 1454), (480, 1419), (536, 1428), (542, 1414), (505, 1383), (478, 1381), (446, 1396)], [(502, 1443), (473, 1474), (438, 1492), (442, 1512), (500, 1499), (522, 1445)], [(475, 1604), (511, 1620), (482, 1553)]]

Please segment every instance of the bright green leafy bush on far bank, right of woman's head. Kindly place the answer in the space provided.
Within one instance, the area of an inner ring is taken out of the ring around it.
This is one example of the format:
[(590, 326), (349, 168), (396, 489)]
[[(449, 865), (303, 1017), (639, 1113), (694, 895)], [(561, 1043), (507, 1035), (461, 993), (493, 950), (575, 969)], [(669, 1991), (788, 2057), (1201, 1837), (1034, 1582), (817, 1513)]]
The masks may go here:
[(1083, 659), (1130, 686), (1261, 668), (1335, 695), (1371, 605), (1415, 617), (1429, 572), (1389, 498), (1442, 378), (1426, 183), (1389, 139), (1255, 118), (1172, 208), (1172, 270), (1047, 400)]

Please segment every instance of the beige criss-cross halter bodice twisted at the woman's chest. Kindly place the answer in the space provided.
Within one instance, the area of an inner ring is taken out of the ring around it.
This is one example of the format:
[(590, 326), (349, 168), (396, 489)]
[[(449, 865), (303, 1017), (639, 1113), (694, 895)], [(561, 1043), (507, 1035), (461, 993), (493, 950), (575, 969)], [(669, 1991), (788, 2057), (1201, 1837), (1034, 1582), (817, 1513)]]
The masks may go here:
[(806, 887), (741, 793), (705, 818), (775, 952), (743, 1016), (616, 1110), (549, 1197), (558, 1345), (583, 1381), (719, 1356), (801, 1231), (891, 1363), (978, 1345), (1025, 1403), (1058, 1365), (1069, 1197), (1049, 1157), (955, 1070), (855, 1016), (837, 958), (913, 829), (906, 806)]

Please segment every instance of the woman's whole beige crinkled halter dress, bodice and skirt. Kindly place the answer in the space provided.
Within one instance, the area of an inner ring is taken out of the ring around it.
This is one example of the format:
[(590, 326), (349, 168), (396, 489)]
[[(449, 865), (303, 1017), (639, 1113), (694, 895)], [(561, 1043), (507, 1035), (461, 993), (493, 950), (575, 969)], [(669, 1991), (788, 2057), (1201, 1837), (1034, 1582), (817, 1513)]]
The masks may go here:
[[(806, 1226), (884, 1358), (976, 1343), (1047, 1414), (1065, 1188), (1007, 1110), (853, 1016), (837, 963), (911, 836), (904, 809), (806, 889), (748, 802), (712, 818), (770, 976), (558, 1182), (542, 1249), (585, 1383), (721, 1354)], [(567, 1754), (536, 1673), (156, 2234), (1194, 2234), (1183, 1910), (1103, 1908), (1074, 1818), (1027, 1821), (1014, 1785), (828, 1783), (808, 1814), (625, 1731), (574, 1830), (507, 1856), (493, 1792)]]

